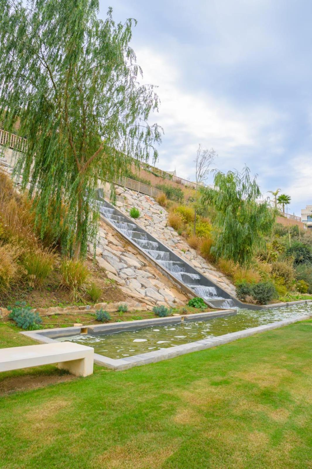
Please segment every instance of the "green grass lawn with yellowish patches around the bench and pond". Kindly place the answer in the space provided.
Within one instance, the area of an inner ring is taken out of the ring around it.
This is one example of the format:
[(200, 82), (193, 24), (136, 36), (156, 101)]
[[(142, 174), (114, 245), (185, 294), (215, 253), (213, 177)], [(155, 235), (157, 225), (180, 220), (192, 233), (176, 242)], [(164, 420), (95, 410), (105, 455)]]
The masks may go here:
[[(0, 347), (28, 343), (0, 326)], [(0, 467), (312, 468), (311, 390), (312, 320), (127, 371), (95, 366), (0, 397)]]

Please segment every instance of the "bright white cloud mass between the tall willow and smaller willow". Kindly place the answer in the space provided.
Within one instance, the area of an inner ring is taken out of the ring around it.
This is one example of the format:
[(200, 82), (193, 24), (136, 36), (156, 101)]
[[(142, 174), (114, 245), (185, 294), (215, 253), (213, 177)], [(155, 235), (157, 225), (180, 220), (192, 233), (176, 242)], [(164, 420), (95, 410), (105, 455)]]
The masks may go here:
[[(154, 118), (163, 126), (165, 135), (158, 166), (168, 170), (176, 167), (181, 177), (192, 179), (199, 143), (215, 148), (220, 155), (218, 166), (223, 170), (240, 169), (245, 163), (250, 165), (255, 149), (264, 150), (265, 160), (266, 145), (271, 153), (281, 154), (282, 132), (275, 133), (272, 129), (277, 122), (285, 120), (282, 114), (267, 106), (237, 109), (208, 92), (184, 90), (182, 76), (169, 56), (149, 48), (139, 48), (136, 53), (144, 83), (159, 86), (161, 105)], [(254, 163), (252, 170), (259, 172), (260, 162)]]

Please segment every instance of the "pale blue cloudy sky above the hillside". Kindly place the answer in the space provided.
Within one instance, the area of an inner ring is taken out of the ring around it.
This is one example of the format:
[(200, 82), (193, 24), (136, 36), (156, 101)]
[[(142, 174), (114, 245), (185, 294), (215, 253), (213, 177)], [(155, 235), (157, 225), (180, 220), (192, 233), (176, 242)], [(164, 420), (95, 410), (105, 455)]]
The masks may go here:
[[(264, 195), (312, 204), (311, 0), (100, 0), (134, 17), (144, 81), (158, 85), (157, 166), (194, 179), (198, 144), (223, 171), (244, 164)], [(210, 178), (209, 183), (212, 182)]]

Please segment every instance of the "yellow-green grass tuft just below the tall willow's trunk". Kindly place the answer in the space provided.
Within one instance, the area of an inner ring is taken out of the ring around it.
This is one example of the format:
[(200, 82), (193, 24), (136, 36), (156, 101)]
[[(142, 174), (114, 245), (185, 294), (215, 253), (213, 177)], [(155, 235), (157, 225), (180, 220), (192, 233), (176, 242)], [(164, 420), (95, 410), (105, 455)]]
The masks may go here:
[(88, 277), (88, 268), (81, 261), (65, 259), (61, 262), (62, 273), (61, 286), (70, 290), (73, 299), (79, 295), (79, 289), (84, 285)]

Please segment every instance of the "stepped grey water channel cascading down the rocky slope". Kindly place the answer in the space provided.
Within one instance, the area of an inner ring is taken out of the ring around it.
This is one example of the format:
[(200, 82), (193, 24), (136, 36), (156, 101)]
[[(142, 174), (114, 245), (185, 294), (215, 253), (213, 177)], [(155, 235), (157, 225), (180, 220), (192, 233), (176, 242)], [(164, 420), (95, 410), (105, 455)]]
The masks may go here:
[(104, 199), (98, 200), (98, 204), (99, 211), (106, 222), (125, 238), (131, 240), (145, 254), (145, 257), (152, 259), (162, 272), (165, 272), (172, 280), (176, 280), (179, 287), (182, 287), (186, 293), (200, 296), (213, 308), (224, 309), (242, 305), (236, 298), (208, 280)]

